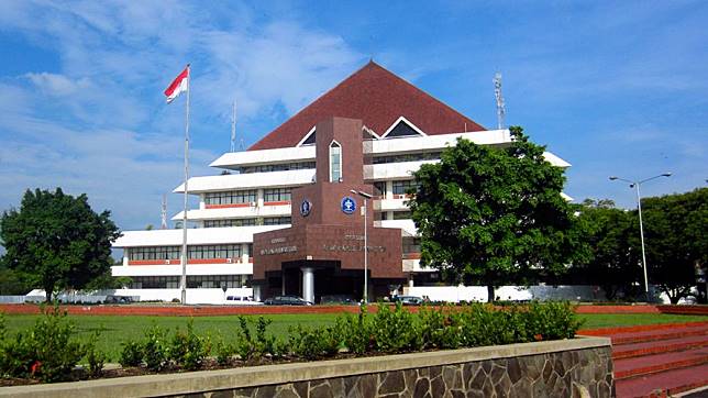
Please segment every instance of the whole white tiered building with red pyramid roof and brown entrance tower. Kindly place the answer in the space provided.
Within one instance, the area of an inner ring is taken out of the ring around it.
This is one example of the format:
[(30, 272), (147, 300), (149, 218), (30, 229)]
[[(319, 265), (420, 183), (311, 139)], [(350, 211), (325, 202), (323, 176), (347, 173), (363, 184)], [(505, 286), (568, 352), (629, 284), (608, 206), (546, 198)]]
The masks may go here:
[[(215, 159), (217, 175), (190, 178), (199, 208), (187, 213), (198, 225), (188, 232), (188, 302), (218, 303), (225, 295), (361, 298), (365, 222), (356, 192), (372, 196), (368, 297), (435, 284), (438, 273), (419, 266), (406, 191), (414, 185), (411, 172), (438, 162), (457, 137), (510, 142), (508, 130), (486, 130), (369, 62), (247, 151)], [(123, 264), (112, 268), (133, 280), (122, 294), (179, 298), (181, 239), (181, 230), (124, 232), (114, 244), (124, 248)]]

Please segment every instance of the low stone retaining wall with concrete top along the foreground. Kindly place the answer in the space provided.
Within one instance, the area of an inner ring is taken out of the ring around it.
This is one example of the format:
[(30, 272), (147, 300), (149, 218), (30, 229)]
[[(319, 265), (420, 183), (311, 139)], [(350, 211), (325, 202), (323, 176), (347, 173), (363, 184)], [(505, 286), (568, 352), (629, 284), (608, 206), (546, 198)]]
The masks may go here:
[(11, 397), (615, 397), (605, 338), (0, 388)]

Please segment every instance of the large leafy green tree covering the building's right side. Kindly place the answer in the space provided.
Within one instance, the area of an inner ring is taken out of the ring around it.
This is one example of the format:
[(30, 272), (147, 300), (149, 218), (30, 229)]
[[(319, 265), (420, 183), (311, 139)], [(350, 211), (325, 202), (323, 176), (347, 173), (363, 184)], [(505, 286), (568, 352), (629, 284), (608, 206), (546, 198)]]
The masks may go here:
[(572, 207), (561, 196), (563, 169), (543, 157), (521, 128), (506, 147), (466, 140), (441, 162), (413, 173), (409, 206), (421, 236), (421, 264), (487, 286), (526, 283), (531, 270), (562, 273), (585, 255)]

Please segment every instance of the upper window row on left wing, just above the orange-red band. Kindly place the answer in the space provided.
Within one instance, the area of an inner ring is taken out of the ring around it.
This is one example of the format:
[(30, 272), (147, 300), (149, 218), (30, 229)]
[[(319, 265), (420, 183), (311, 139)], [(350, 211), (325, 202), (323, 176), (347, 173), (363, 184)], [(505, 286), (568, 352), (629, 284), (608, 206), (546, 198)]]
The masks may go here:
[[(248, 243), (246, 254), (253, 253)], [(151, 246), (128, 248), (128, 259), (179, 259), (180, 246)], [(188, 258), (236, 258), (241, 257), (240, 244), (198, 245), (187, 248)]]

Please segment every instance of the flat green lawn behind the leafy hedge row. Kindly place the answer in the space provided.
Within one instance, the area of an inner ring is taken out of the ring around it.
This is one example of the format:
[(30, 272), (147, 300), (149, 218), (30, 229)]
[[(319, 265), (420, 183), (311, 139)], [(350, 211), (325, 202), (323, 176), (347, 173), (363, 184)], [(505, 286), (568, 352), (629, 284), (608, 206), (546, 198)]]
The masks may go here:
[[(34, 324), (40, 316), (5, 316), (5, 325), (10, 334), (16, 333)], [(278, 336), (285, 336), (288, 329), (296, 324), (316, 327), (334, 322), (338, 314), (278, 314), (266, 316), (273, 320), (269, 331)], [(585, 321), (583, 329), (609, 327), (628, 327), (639, 324), (673, 323), (708, 321), (708, 317), (674, 316), (674, 314), (580, 314)], [(255, 317), (246, 317), (255, 318)], [(110, 362), (117, 362), (121, 343), (128, 340), (141, 339), (144, 331), (154, 324), (174, 330), (184, 328), (188, 318), (185, 317), (111, 317), (111, 316), (70, 316), (79, 335), (89, 336), (96, 330), (102, 330), (98, 342), (99, 349), (106, 352)], [(236, 317), (197, 317), (195, 330), (200, 334), (209, 333), (212, 338), (229, 338), (239, 328)]]

